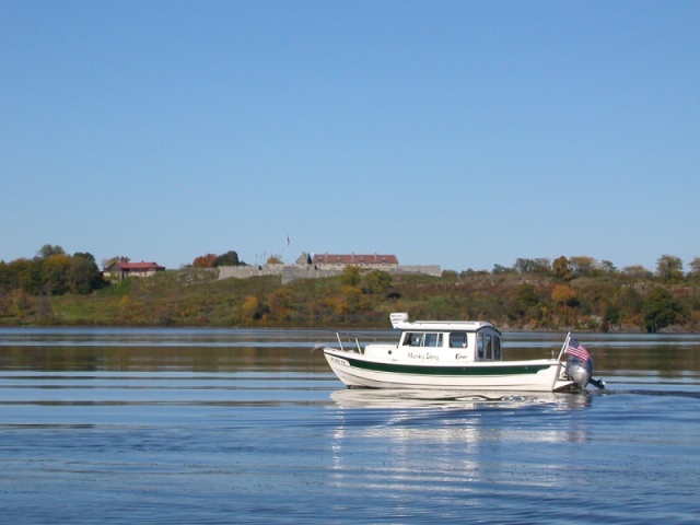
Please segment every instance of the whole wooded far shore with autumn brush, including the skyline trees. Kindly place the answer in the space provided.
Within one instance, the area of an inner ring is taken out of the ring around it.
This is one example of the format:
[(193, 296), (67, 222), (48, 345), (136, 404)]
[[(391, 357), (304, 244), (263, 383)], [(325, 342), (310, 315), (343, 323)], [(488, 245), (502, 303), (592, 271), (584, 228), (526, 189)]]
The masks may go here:
[[(235, 253), (226, 264), (241, 264)], [(442, 277), (348, 267), (335, 278), (282, 285), (279, 278), (218, 280), (213, 260), (148, 279), (105, 282), (90, 254), (47, 245), (34, 259), (0, 262), (0, 324), (101, 326), (388, 326), (413, 318), (487, 319), (503, 329), (695, 331), (700, 259), (674, 256), (655, 271), (592, 257), (516, 259), (492, 271)], [(219, 261), (218, 261), (219, 262)]]

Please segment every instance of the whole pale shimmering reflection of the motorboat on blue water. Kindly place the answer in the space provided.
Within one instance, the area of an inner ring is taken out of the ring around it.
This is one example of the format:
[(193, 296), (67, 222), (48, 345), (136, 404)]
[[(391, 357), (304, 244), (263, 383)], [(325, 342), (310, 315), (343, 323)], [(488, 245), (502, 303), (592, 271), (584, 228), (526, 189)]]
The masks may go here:
[[(591, 394), (341, 389), (330, 394), (330, 441), (338, 487), (450, 487), (469, 498), (480, 487), (558, 487), (556, 457), (591, 440)], [(358, 457), (363, 458), (360, 468)], [(578, 460), (578, 459), (576, 459)], [(368, 468), (366, 465), (373, 465)], [(430, 465), (429, 476), (423, 471)], [(565, 470), (578, 466), (568, 465)], [(567, 474), (563, 474), (569, 476)], [(418, 490), (418, 489), (417, 489)], [(486, 490), (486, 489), (485, 489)]]

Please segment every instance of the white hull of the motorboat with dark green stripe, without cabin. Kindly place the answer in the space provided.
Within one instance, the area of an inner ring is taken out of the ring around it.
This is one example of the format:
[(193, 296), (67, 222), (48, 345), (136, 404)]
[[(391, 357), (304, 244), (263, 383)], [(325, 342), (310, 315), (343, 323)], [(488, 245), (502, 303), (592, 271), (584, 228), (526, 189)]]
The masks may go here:
[(338, 378), (349, 387), (561, 392), (574, 385), (560, 378), (562, 363), (556, 359), (413, 364), (328, 347), (324, 348), (324, 355)]

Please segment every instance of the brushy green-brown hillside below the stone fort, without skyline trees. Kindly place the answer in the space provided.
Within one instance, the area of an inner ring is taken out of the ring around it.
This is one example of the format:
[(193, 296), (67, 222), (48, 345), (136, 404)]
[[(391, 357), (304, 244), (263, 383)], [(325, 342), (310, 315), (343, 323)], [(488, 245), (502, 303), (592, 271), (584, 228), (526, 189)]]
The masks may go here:
[[(10, 301), (12, 300), (12, 301)], [(363, 273), (280, 284), (279, 277), (218, 280), (215, 270), (127, 279), (88, 295), (5, 298), (0, 325), (388, 328), (412, 318), (487, 319), (502, 329), (696, 330), (696, 281), (603, 275)], [(650, 324), (651, 323), (651, 324)], [(650, 329), (651, 327), (651, 329)]]

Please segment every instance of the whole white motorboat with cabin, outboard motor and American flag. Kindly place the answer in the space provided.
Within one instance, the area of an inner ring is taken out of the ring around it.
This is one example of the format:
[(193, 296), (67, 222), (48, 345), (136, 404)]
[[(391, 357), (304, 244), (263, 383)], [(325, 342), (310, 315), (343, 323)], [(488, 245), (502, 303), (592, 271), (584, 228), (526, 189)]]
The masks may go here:
[[(500, 392), (583, 390), (592, 377), (587, 350), (569, 334), (557, 359), (503, 361), (502, 334), (487, 322), (409, 322), (390, 314), (401, 330), (398, 343), (362, 346), (336, 334), (338, 347), (320, 345), (338, 378), (354, 388), (413, 388)], [(348, 336), (348, 335), (346, 335)], [(562, 358), (567, 355), (567, 359)]]

